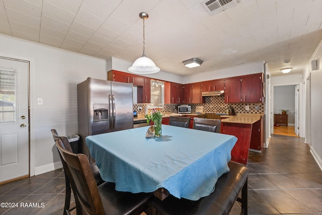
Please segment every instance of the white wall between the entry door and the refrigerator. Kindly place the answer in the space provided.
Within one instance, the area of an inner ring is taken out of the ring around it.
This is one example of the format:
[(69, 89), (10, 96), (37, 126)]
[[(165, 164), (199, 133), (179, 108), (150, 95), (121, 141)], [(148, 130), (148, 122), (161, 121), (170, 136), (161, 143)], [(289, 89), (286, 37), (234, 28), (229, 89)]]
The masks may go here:
[[(31, 61), (31, 147), (40, 174), (60, 162), (50, 129), (77, 133), (77, 88), (88, 77), (107, 79), (106, 60), (0, 35), (0, 55)], [(37, 105), (37, 98), (43, 105)], [(27, 153), (27, 152), (26, 152)]]

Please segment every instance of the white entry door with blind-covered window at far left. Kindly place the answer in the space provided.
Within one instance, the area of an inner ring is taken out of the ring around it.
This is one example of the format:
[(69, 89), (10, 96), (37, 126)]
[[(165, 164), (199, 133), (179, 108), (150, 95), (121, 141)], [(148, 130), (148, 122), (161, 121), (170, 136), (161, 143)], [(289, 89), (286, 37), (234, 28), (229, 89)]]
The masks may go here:
[(0, 182), (29, 175), (29, 62), (0, 58)]

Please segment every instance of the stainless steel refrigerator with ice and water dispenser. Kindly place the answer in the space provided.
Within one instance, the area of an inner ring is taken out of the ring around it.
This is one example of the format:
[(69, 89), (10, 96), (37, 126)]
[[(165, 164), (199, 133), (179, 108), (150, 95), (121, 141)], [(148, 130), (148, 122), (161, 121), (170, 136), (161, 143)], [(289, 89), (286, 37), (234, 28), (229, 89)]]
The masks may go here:
[(88, 78), (77, 85), (78, 133), (81, 153), (90, 156), (89, 135), (133, 128), (133, 85)]

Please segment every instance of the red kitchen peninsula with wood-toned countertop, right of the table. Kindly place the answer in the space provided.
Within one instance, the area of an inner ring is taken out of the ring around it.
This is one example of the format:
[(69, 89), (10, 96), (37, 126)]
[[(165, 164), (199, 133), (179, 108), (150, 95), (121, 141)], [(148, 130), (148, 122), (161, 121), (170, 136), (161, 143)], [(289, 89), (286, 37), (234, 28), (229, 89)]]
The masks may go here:
[(261, 152), (264, 145), (264, 114), (222, 116), (221, 133), (238, 138), (231, 155), (233, 161), (247, 164), (249, 150)]

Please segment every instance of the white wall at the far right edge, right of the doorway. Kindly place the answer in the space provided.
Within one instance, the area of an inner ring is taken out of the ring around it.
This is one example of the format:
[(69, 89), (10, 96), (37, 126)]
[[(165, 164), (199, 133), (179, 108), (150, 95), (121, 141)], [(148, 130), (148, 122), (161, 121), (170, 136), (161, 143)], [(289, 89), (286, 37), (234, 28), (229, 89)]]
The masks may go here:
[[(310, 77), (310, 100), (311, 104), (308, 107), (310, 108), (311, 116), (311, 142), (308, 144), (311, 144), (311, 153), (314, 156), (315, 160), (319, 164), (319, 167), (322, 169), (322, 65), (321, 65), (321, 59), (322, 59), (322, 41), (317, 47), (316, 51), (314, 52), (313, 56), (307, 63), (303, 77), (304, 79)], [(311, 60), (317, 60), (317, 70), (311, 70)], [(308, 131), (309, 132), (309, 131)]]

